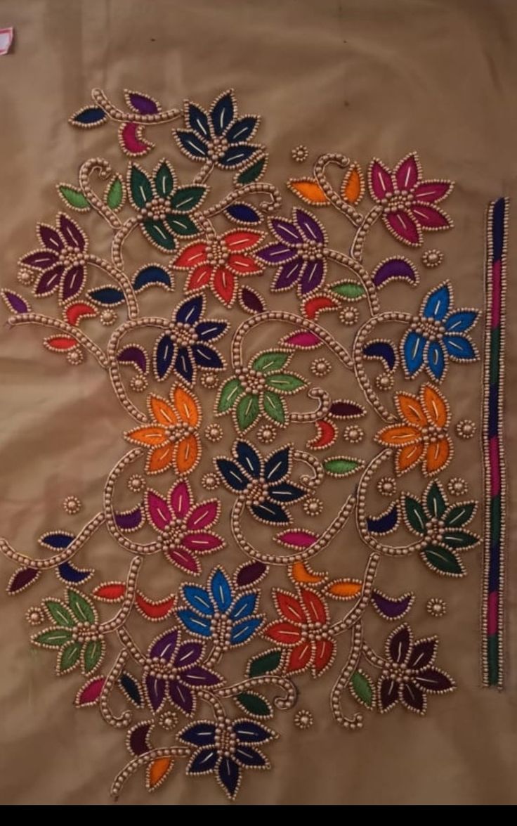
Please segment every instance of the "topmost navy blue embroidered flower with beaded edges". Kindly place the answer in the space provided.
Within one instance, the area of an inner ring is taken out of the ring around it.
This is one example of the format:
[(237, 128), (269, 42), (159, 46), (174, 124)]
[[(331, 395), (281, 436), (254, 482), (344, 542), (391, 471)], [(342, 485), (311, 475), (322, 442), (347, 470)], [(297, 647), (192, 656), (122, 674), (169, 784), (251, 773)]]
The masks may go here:
[(249, 144), (259, 117), (237, 117), (237, 105), (233, 93), (222, 93), (205, 112), (196, 103), (185, 104), (185, 121), (190, 130), (174, 132), (180, 149), (192, 160), (212, 162), (219, 169), (240, 169), (259, 145)]

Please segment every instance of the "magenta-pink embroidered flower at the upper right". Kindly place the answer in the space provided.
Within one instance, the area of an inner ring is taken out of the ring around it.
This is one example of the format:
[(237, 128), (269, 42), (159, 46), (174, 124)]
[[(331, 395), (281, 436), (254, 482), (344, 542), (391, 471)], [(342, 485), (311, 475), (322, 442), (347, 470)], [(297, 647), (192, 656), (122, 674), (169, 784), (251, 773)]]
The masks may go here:
[(448, 230), (453, 221), (439, 207), (431, 206), (447, 197), (451, 181), (422, 180), (418, 156), (413, 153), (390, 169), (377, 158), (368, 170), (368, 187), (373, 201), (382, 206), (382, 221), (403, 244), (418, 247), (422, 230)]

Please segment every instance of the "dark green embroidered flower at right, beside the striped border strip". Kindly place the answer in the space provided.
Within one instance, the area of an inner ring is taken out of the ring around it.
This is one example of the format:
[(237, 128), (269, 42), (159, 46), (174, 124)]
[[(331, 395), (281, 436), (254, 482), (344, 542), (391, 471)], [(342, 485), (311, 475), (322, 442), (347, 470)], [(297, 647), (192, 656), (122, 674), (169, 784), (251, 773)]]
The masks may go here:
[(420, 536), (420, 556), (434, 572), (448, 577), (464, 577), (458, 551), (480, 542), (477, 534), (463, 530), (472, 521), (477, 502), (449, 506), (440, 482), (431, 482), (421, 501), (404, 494), (404, 521), (411, 533)]

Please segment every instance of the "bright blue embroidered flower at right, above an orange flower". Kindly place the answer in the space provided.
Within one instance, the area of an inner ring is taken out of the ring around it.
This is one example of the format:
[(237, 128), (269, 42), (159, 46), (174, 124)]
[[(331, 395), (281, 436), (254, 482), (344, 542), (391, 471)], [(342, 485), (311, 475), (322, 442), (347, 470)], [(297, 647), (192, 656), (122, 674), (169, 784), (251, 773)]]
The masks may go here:
[(453, 291), (445, 282), (429, 292), (420, 307), (420, 315), (401, 340), (401, 358), (405, 371), (414, 378), (422, 369), (441, 382), (448, 358), (456, 362), (476, 361), (477, 349), (467, 330), (476, 324), (475, 310), (452, 311)]

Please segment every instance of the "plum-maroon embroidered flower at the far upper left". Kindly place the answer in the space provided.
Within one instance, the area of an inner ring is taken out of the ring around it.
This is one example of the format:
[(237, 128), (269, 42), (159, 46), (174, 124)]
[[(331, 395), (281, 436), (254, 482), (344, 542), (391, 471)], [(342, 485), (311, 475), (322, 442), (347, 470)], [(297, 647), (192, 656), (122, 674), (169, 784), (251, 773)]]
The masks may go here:
[(42, 249), (25, 255), (21, 262), (43, 270), (34, 287), (36, 296), (50, 296), (59, 289), (59, 301), (69, 301), (83, 289), (88, 240), (71, 218), (60, 213), (55, 228), (38, 224)]

